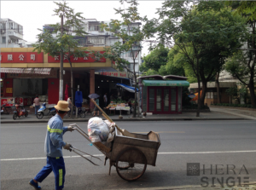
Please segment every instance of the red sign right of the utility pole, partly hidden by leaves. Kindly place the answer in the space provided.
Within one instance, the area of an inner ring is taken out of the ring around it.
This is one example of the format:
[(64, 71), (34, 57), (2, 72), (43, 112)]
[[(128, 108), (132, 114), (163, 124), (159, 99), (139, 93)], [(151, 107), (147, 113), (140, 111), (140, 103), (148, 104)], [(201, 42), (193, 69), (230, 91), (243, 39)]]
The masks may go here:
[[(89, 54), (89, 52), (87, 51), (84, 51), (86, 54)], [(105, 53), (105, 51), (100, 51), (101, 54)], [(60, 55), (58, 56), (50, 56), (48, 55), (48, 62), (49, 63), (60, 63)], [(87, 56), (87, 57), (73, 57), (71, 56), (71, 61), (73, 63), (84, 63), (84, 62), (95, 62), (96, 59), (91, 55)], [(67, 58), (64, 57), (64, 60), (63, 60), (64, 63), (68, 63), (68, 60)], [(106, 58), (102, 57), (101, 60), (99, 62), (106, 62)]]

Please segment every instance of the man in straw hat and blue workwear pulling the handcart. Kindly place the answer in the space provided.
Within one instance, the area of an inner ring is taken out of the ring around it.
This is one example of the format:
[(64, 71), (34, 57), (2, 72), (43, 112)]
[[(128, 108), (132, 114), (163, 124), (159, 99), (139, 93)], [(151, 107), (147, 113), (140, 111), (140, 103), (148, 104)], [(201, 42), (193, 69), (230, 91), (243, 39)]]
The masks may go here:
[(67, 101), (58, 101), (55, 109), (57, 114), (49, 119), (44, 142), (47, 164), (39, 171), (37, 176), (29, 181), (29, 184), (36, 190), (41, 189), (41, 187), (38, 186), (38, 182), (44, 181), (51, 171), (55, 174), (55, 190), (60, 190), (64, 187), (66, 170), (62, 147), (69, 150), (71, 145), (63, 141), (63, 135), (66, 131), (73, 131), (73, 128), (71, 126), (63, 127), (62, 119), (69, 111)]

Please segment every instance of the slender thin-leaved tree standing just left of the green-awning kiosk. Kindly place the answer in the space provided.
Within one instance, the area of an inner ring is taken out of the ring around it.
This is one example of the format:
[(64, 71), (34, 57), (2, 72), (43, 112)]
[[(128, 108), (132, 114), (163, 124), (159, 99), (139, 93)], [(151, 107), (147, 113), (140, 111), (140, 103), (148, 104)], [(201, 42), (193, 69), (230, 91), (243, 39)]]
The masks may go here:
[[(121, 4), (128, 3), (127, 9), (114, 9), (116, 14), (120, 14), (122, 20), (111, 20), (109, 25), (102, 24), (101, 28), (108, 32), (113, 32), (114, 36), (119, 37), (122, 42), (117, 42), (110, 48), (106, 49), (105, 57), (115, 61), (120, 70), (126, 69), (131, 72), (135, 82), (135, 89), (137, 91), (137, 75), (135, 71), (136, 59), (142, 49), (142, 41), (148, 39), (153, 35), (147, 32), (153, 22), (149, 21), (146, 16), (141, 17), (137, 11), (137, 0), (120, 0)], [(146, 22), (145, 26), (140, 27), (141, 22)], [(125, 52), (131, 53), (133, 60), (133, 70), (128, 68), (130, 64), (127, 60), (122, 59), (121, 55)], [(134, 96), (137, 102), (137, 93)], [(133, 117), (136, 117), (136, 104), (134, 106)]]

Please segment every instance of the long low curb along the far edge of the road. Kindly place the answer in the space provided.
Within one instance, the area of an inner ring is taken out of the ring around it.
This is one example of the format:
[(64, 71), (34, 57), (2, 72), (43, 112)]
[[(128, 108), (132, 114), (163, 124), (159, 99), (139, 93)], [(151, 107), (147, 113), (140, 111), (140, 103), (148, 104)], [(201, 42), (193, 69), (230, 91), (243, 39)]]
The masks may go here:
[[(63, 122), (88, 122), (88, 119), (64, 119)], [(247, 118), (123, 118), (116, 119), (116, 122), (126, 122), (126, 121), (204, 121), (204, 120), (250, 120)], [(46, 123), (48, 120), (14, 120), (14, 121), (1, 121), (1, 124), (35, 124), (35, 123)]]

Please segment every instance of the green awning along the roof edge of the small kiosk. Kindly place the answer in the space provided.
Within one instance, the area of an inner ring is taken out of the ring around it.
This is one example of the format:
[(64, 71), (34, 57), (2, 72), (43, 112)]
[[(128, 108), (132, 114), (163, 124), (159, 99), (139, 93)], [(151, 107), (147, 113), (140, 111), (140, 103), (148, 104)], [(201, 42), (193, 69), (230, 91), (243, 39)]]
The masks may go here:
[(184, 80), (143, 80), (144, 86), (189, 86)]

